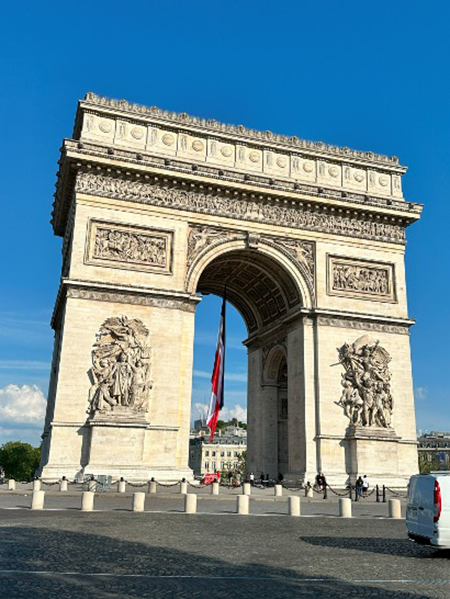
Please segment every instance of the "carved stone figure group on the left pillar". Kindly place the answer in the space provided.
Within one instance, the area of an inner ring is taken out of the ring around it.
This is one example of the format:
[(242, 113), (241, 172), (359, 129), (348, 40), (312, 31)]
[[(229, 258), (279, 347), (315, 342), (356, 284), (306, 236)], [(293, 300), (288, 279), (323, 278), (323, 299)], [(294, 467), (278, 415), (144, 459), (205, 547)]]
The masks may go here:
[(137, 319), (108, 318), (102, 324), (92, 350), (89, 412), (146, 411), (150, 352), (145, 346), (148, 330)]

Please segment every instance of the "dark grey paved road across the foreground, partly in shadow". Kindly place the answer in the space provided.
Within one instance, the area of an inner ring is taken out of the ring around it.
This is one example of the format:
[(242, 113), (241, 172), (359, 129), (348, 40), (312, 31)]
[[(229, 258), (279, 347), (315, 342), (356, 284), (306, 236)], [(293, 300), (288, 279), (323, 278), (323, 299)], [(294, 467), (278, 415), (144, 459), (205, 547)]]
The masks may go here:
[(450, 597), (450, 553), (380, 518), (1, 509), (0, 558), (8, 599)]

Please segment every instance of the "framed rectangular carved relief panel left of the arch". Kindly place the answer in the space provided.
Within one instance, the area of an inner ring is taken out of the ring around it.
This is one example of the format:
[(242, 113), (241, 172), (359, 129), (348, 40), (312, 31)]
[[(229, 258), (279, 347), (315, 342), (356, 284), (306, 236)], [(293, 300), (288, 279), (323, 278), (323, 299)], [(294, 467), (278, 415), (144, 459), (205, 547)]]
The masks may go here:
[(86, 264), (171, 274), (172, 231), (91, 220)]

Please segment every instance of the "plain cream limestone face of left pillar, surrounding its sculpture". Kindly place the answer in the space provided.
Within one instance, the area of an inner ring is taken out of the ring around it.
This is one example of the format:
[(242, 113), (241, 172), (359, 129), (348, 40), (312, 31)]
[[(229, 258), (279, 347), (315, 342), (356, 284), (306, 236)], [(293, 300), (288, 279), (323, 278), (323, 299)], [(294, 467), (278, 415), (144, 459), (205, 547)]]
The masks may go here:
[[(134, 306), (118, 302), (68, 298), (64, 339), (60, 354), (58, 388), (51, 433), (50, 467), (44, 475), (74, 476), (85, 467), (89, 471), (90, 427), (86, 427), (91, 380), (91, 350), (101, 324), (112, 316), (138, 318), (149, 329), (149, 345), (154, 348), (151, 361), (153, 389), (150, 395), (141, 456), (142, 478), (158, 469), (187, 470), (190, 419), (194, 314), (180, 309)], [(136, 431), (135, 431), (136, 433)], [(134, 434), (134, 433), (133, 433)], [(103, 451), (108, 447), (109, 463), (117, 467), (133, 446), (128, 431), (120, 438), (103, 435)], [(137, 434), (137, 433), (136, 433)], [(113, 446), (106, 445), (107, 441)], [(134, 439), (134, 441), (133, 441)], [(155, 468), (155, 464), (158, 468)], [(101, 467), (97, 463), (98, 467)], [(175, 468), (174, 468), (175, 467)], [(103, 473), (111, 474), (111, 471)]]

